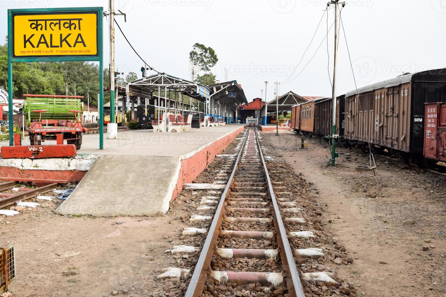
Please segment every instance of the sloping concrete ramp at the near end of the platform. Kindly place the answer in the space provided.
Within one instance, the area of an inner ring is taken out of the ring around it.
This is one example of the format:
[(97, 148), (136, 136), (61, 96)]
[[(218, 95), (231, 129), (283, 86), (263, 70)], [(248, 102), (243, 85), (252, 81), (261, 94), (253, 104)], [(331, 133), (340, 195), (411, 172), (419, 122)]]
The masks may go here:
[(180, 157), (98, 157), (57, 209), (61, 215), (153, 216), (169, 209)]

